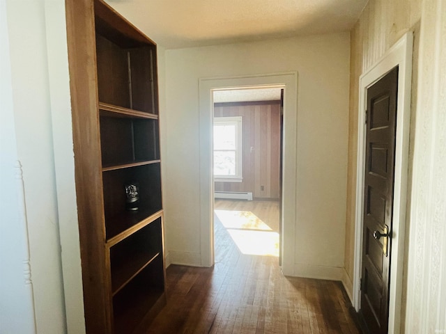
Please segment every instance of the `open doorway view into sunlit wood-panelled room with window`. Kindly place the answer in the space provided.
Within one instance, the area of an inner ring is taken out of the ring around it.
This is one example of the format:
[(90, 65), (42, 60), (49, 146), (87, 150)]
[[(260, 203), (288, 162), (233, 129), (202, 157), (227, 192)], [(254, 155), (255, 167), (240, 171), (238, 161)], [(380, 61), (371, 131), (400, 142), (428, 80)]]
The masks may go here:
[(213, 90), (215, 260), (279, 257), (283, 87)]

